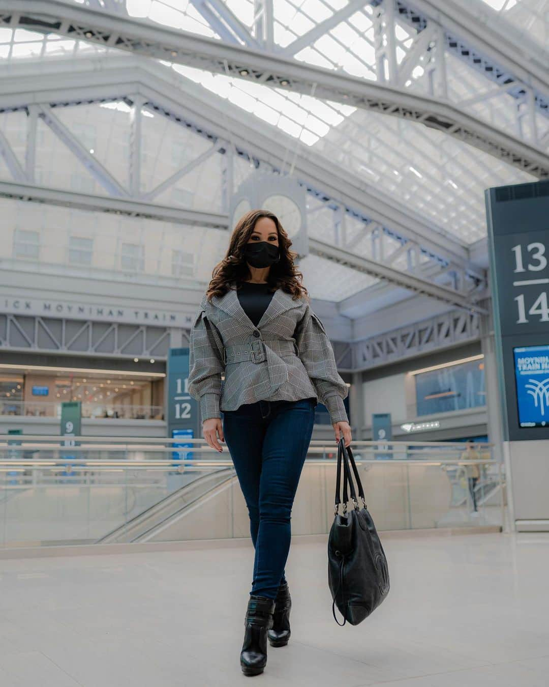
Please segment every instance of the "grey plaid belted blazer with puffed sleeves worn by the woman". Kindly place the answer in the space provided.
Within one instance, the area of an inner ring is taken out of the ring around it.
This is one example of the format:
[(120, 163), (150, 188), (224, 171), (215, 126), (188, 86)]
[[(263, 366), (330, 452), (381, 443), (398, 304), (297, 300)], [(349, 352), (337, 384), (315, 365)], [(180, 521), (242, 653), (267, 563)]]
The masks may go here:
[(274, 291), (257, 327), (231, 286), (211, 302), (204, 294), (191, 326), (188, 390), (200, 403), (202, 421), (243, 403), (314, 396), (331, 423), (349, 422), (343, 404), (349, 388), (324, 325), (304, 297), (293, 300), (282, 289)]

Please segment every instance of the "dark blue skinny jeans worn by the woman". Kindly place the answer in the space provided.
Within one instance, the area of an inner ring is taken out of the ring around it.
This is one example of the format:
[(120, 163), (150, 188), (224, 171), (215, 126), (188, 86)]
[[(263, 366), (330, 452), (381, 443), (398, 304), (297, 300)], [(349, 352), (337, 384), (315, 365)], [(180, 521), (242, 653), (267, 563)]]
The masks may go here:
[(314, 425), (314, 396), (244, 403), (223, 413), (225, 443), (250, 515), (250, 594), (275, 598), (285, 582), (290, 517)]

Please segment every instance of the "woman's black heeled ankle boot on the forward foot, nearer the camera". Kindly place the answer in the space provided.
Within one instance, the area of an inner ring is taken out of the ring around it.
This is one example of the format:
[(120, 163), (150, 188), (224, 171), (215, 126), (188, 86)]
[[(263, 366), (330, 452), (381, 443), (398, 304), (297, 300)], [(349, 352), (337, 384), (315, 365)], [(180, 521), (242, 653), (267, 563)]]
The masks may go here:
[(244, 675), (259, 675), (267, 664), (267, 631), (272, 627), (274, 599), (250, 594), (244, 620), (240, 666)]

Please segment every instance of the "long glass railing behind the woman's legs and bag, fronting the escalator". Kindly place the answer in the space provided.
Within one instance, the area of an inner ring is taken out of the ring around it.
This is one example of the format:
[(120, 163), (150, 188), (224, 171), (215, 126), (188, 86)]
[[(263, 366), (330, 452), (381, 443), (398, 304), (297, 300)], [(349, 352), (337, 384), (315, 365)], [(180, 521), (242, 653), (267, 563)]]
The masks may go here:
[[(80, 445), (23, 435), (0, 442), (1, 546), (249, 537), (226, 447), (220, 454), (199, 439), (185, 439), (188, 448), (169, 439), (75, 440)], [(487, 444), (478, 460), (464, 458), (463, 444), (351, 445), (380, 531), (504, 526), (503, 466)], [(329, 532), (336, 449), (335, 441), (311, 442), (292, 534)]]

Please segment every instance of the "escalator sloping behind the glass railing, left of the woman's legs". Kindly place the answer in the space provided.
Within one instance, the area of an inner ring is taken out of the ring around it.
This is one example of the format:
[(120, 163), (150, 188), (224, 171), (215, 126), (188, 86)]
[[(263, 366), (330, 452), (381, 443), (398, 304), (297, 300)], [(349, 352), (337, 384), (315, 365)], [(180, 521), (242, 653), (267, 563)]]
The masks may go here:
[(172, 524), (184, 518), (186, 513), (196, 508), (197, 504), (230, 488), (235, 479), (236, 473), (233, 467), (197, 477), (196, 480), (185, 484), (154, 506), (132, 517), (124, 525), (108, 532), (101, 539), (95, 540), (95, 543), (153, 541), (156, 534), (169, 530)]

